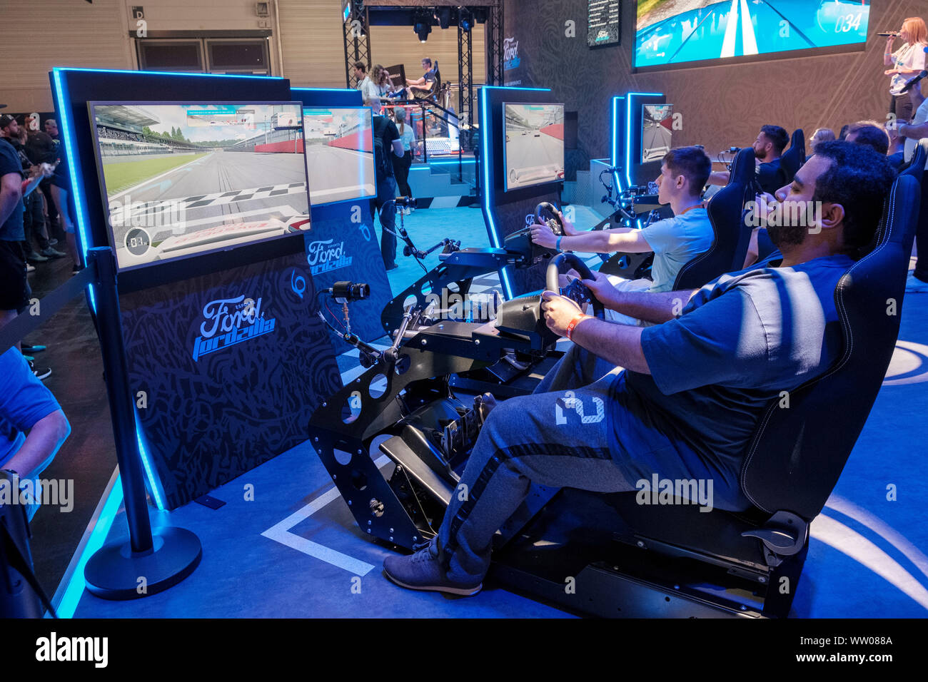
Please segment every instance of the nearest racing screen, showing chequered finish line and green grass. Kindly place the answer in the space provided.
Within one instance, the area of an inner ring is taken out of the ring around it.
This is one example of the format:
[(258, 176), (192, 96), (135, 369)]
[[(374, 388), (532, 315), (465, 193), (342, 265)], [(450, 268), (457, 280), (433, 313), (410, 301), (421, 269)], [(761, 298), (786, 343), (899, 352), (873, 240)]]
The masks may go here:
[(299, 102), (91, 102), (120, 269), (309, 229)]

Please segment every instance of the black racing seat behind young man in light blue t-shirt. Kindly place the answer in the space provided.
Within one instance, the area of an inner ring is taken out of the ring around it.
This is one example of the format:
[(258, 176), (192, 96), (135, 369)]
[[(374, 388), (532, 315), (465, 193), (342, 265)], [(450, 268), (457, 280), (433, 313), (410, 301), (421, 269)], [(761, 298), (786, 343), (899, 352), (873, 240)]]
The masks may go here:
[[(740, 270), (751, 239), (751, 227), (743, 220), (744, 204), (754, 199), (754, 148), (741, 149), (731, 164), (728, 185), (719, 189), (706, 212), (715, 232), (709, 251), (680, 268), (674, 290), (692, 290), (725, 273)], [(743, 251), (742, 251), (743, 249)]]

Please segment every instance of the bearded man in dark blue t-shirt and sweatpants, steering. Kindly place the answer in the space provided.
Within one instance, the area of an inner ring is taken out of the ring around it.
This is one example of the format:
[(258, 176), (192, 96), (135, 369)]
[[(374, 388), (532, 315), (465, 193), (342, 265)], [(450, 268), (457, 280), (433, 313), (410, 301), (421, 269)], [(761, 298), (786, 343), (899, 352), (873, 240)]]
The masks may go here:
[[(609, 493), (640, 490), (652, 475), (702, 480), (713, 485), (714, 508), (749, 508), (739, 486), (744, 451), (770, 401), (842, 353), (834, 289), (868, 250), (895, 175), (870, 148), (823, 143), (778, 190), (800, 210), (770, 223), (780, 252), (767, 263), (692, 291), (584, 282), (606, 307), (655, 327), (600, 321), (546, 291), (548, 328), (572, 329), (574, 349), (540, 392), (489, 413), (437, 536), (411, 556), (388, 557), (385, 575), (413, 589), (476, 593), (496, 530), (532, 483)], [(809, 202), (820, 219), (804, 225)]]

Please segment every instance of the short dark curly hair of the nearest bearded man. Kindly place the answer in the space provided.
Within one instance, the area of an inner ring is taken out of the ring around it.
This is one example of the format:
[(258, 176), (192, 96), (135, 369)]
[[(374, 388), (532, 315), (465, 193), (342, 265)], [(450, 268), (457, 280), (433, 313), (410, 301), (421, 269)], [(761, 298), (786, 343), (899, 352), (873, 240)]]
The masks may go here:
[(816, 179), (812, 200), (844, 207), (844, 246), (859, 258), (873, 246), (896, 171), (884, 155), (854, 142), (822, 142), (815, 153), (831, 167)]

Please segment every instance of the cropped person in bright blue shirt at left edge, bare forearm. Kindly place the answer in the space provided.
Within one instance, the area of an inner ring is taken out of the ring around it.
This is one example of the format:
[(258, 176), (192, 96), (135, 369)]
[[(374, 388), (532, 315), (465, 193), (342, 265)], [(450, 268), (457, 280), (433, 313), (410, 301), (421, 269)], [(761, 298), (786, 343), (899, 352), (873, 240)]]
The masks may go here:
[[(58, 401), (26, 358), (16, 348), (0, 354), (0, 470), (11, 479), (33, 479), (51, 464), (70, 433)], [(32, 490), (40, 488), (33, 485)], [(30, 520), (37, 508), (30, 505)]]

